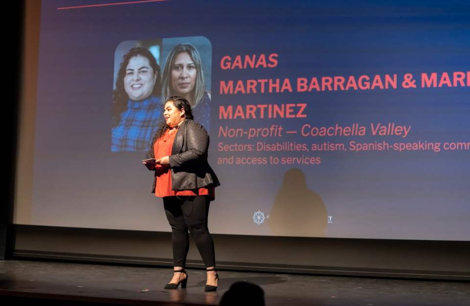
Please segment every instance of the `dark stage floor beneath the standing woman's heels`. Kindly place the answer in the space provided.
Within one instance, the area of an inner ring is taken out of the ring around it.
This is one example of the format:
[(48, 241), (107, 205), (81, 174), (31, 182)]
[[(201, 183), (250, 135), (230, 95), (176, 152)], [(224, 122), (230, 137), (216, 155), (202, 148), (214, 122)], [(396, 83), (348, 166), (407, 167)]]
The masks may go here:
[[(0, 261), (0, 305), (218, 305), (236, 281), (259, 285), (267, 306), (469, 306), (470, 282), (219, 272), (188, 269), (188, 288), (165, 290), (172, 269), (30, 260)], [(148, 291), (144, 291), (148, 290)], [(41, 300), (40, 300), (41, 299)], [(245, 305), (250, 305), (246, 303)]]

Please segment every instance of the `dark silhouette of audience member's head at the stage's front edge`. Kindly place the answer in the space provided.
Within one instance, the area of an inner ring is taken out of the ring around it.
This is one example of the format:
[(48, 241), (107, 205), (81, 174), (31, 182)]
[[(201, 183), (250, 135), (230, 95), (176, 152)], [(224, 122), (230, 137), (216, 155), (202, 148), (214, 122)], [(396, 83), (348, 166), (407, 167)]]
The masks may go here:
[(264, 291), (246, 281), (233, 283), (220, 300), (220, 306), (264, 306)]

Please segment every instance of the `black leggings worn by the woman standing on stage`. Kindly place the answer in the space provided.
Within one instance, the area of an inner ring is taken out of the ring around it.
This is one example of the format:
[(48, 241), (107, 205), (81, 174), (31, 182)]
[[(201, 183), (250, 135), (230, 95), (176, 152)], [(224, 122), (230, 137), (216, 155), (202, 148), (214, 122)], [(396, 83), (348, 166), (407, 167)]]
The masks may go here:
[[(183, 199), (183, 200), (182, 200)], [(188, 229), (196, 242), (206, 268), (215, 266), (214, 243), (207, 228), (210, 198), (208, 196), (164, 197), (166, 218), (172, 229), (173, 262), (186, 266), (189, 250)]]

